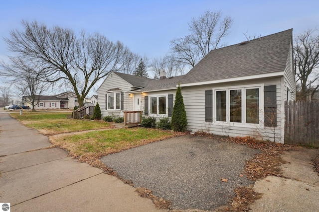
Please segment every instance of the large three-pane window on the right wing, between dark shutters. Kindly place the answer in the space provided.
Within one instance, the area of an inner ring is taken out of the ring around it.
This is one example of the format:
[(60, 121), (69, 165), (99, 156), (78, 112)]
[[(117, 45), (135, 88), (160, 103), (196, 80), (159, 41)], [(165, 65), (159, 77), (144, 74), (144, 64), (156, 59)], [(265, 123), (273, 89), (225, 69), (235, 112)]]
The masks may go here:
[(261, 86), (214, 89), (217, 122), (260, 123)]

